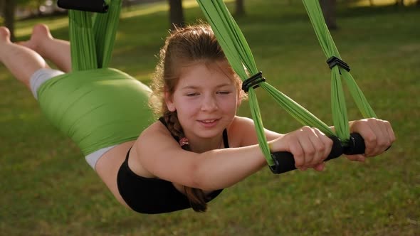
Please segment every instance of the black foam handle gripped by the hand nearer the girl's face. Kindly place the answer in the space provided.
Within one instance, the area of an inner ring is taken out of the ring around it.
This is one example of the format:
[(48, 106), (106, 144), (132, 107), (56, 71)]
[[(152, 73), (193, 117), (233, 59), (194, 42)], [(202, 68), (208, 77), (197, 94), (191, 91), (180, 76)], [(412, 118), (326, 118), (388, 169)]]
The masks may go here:
[[(332, 149), (330, 154), (327, 156), (327, 160), (335, 159), (342, 155), (341, 141), (335, 136), (330, 137), (332, 139)], [(270, 166), (271, 172), (273, 173), (285, 173), (296, 169), (295, 159), (293, 154), (288, 151), (276, 151), (271, 153), (273, 157), (274, 165)]]

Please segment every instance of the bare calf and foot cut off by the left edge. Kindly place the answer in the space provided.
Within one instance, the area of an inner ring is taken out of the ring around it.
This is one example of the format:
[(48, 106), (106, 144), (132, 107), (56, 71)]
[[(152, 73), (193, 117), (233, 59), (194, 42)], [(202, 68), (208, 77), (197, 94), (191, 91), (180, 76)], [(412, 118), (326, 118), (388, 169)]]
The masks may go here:
[(49, 68), (46, 61), (30, 48), (10, 41), (10, 31), (0, 27), (0, 62), (26, 87), (33, 73), (41, 68)]

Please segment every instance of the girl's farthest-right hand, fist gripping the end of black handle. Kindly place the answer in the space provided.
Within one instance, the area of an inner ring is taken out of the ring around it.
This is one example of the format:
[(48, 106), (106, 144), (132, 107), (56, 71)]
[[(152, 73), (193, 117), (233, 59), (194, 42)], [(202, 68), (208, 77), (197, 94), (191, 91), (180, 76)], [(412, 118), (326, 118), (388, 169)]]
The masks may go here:
[(377, 156), (386, 151), (395, 141), (391, 124), (385, 120), (369, 118), (350, 122), (350, 132), (359, 133), (364, 139), (364, 154), (348, 155), (351, 161), (364, 161), (366, 157)]

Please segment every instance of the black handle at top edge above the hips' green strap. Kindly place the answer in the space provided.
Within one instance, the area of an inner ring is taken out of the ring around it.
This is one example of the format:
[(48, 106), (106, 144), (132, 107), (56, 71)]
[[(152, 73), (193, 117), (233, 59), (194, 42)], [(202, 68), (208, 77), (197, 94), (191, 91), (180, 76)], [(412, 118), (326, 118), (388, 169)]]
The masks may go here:
[(58, 7), (62, 9), (106, 13), (108, 5), (104, 0), (58, 0)]

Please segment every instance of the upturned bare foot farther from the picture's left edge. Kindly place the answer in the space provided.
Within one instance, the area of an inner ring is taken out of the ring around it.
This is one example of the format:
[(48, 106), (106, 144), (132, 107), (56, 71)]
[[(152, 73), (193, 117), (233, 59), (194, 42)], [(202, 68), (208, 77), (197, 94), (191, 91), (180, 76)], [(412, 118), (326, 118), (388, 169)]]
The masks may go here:
[(33, 26), (31, 39), (28, 41), (20, 42), (19, 45), (31, 48), (37, 53), (43, 55), (43, 43), (48, 43), (48, 41), (51, 39), (53, 39), (53, 36), (51, 36), (48, 26), (44, 25), (43, 23), (39, 23), (36, 26)]

